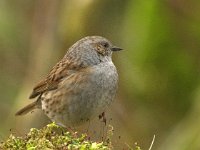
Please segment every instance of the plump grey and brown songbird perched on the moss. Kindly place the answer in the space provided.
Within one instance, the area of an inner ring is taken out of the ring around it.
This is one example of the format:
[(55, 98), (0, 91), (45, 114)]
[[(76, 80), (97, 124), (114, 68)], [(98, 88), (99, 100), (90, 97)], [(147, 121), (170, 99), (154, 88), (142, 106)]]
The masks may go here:
[(41, 82), (16, 116), (42, 109), (52, 122), (79, 126), (104, 112), (118, 89), (112, 53), (122, 50), (102, 36), (78, 40)]

